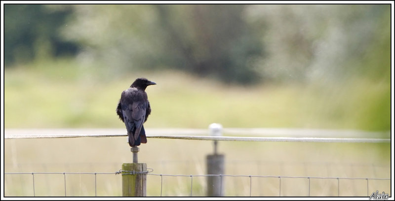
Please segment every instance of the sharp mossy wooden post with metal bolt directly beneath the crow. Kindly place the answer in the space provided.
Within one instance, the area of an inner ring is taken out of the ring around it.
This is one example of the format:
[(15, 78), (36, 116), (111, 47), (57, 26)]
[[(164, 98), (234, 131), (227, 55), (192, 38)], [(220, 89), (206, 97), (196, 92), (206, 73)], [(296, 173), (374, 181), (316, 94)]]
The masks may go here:
[(147, 164), (138, 163), (138, 147), (130, 148), (133, 153), (133, 163), (122, 164), (122, 196), (145, 197), (147, 196)]

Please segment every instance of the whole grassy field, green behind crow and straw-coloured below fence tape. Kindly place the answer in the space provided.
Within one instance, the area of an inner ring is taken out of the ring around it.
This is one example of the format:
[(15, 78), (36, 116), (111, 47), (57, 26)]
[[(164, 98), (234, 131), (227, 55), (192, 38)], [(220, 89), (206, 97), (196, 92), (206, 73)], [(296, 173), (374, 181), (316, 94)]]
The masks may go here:
[[(51, 66), (51, 67), (48, 67)], [(147, 128), (315, 128), (390, 130), (390, 83), (353, 77), (316, 84), (234, 86), (175, 71), (113, 75), (70, 60), (5, 69), (5, 128), (124, 128), (115, 108), (136, 77), (147, 88)], [(115, 172), (131, 162), (126, 137), (7, 139), (5, 172)], [(158, 174), (205, 174), (210, 141), (149, 139), (139, 160)], [(390, 177), (390, 144), (220, 142), (226, 174)], [(64, 196), (63, 175), (36, 175), (36, 196)], [(120, 196), (120, 175), (98, 175), (98, 196)], [(160, 195), (160, 177), (148, 175), (148, 196)], [(282, 179), (282, 196), (306, 196), (307, 181)], [(337, 181), (311, 180), (312, 196), (337, 196)], [(163, 196), (189, 196), (189, 177), (163, 177)], [(365, 180), (341, 180), (340, 196), (366, 196)], [(68, 175), (68, 196), (94, 196), (92, 175)], [(205, 195), (196, 178), (193, 195)], [(390, 192), (390, 181), (369, 181)], [(249, 178), (227, 177), (227, 196), (248, 196)], [(5, 175), (6, 196), (33, 196), (32, 175)], [(277, 178), (253, 178), (252, 196), (277, 196)]]

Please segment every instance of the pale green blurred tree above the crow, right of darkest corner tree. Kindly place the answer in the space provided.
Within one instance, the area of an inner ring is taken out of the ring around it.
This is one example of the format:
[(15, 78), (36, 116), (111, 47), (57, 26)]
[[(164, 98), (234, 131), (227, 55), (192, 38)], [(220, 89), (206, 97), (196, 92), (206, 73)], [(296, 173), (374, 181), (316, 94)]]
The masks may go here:
[[(62, 36), (83, 48), (78, 59), (109, 70), (109, 75), (158, 66), (157, 13), (152, 5), (73, 5)], [(102, 64), (98, 66), (97, 64)], [(110, 73), (111, 72), (111, 73)]]

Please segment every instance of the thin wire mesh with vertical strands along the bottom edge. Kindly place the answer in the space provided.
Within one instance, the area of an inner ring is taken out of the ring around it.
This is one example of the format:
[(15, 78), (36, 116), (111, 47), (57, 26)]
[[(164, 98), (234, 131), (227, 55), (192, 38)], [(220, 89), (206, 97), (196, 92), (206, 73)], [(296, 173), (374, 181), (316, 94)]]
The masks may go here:
[[(34, 180), (34, 175), (35, 174), (63, 174), (64, 175), (64, 193), (65, 197), (67, 196), (67, 189), (66, 189), (66, 174), (91, 174), (95, 175), (95, 196), (97, 196), (97, 179), (96, 175), (97, 174), (147, 174), (147, 175), (153, 175), (153, 176), (160, 176), (160, 197), (162, 196), (162, 189), (163, 189), (163, 176), (170, 176), (170, 177), (190, 177), (191, 178), (191, 189), (190, 189), (190, 196), (192, 197), (193, 194), (193, 177), (213, 177), (213, 176), (218, 176), (220, 178), (222, 177), (245, 177), (249, 178), (249, 196), (251, 197), (251, 191), (252, 191), (252, 178), (278, 178), (278, 196), (281, 196), (281, 178), (291, 178), (291, 179), (307, 179), (309, 184), (308, 184), (308, 197), (310, 197), (310, 180), (311, 179), (334, 179), (337, 180), (337, 195), (338, 197), (340, 196), (340, 180), (366, 180), (366, 185), (367, 185), (367, 196), (369, 196), (369, 180), (391, 180), (390, 178), (367, 178), (367, 177), (318, 177), (318, 176), (274, 176), (274, 175), (242, 175), (242, 174), (158, 174), (158, 173), (151, 173), (153, 171), (152, 168), (149, 171), (142, 171), (142, 172), (132, 172), (132, 171), (124, 171), (124, 170), (119, 170), (116, 172), (5, 172), (5, 175), (17, 175), (17, 174), (32, 174), (33, 177), (33, 195), (36, 196), (35, 193), (35, 180)], [(222, 179), (221, 179), (221, 184), (220, 188), (222, 189)]]

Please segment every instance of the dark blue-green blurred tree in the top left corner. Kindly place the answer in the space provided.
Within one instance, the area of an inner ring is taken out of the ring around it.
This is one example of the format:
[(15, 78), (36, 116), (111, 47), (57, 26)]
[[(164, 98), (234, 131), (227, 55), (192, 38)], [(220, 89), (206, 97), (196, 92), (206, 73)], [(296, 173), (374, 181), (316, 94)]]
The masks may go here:
[(48, 9), (40, 4), (4, 4), (4, 61), (27, 62), (38, 57), (75, 55), (78, 46), (58, 35), (72, 7)]

